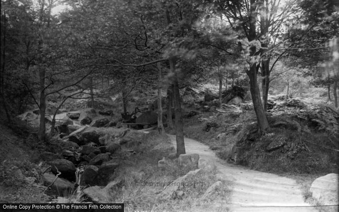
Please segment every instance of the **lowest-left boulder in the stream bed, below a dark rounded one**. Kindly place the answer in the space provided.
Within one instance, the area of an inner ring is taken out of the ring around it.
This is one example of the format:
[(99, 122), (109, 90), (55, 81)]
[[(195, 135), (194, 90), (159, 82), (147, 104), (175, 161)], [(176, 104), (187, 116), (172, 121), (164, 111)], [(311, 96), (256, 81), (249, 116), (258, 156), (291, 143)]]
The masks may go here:
[(55, 180), (55, 178), (55, 175), (45, 173), (42, 177), (42, 180), (45, 186), (49, 186), (50, 184), (52, 184), (52, 182), (54, 182), (51, 188), (56, 191), (58, 195), (69, 194), (69, 192), (73, 190), (74, 185), (72, 182), (69, 182), (59, 177)]

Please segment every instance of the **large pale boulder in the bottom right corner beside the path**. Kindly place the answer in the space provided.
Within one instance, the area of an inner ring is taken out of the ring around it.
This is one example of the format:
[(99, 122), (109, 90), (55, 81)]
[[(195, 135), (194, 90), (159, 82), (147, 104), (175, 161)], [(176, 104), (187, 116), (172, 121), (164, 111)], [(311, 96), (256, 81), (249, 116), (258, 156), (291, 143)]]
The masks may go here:
[(309, 189), (312, 192), (312, 197), (322, 205), (337, 205), (336, 207), (328, 207), (326, 211), (337, 212), (339, 205), (339, 189), (338, 189), (338, 174), (328, 174), (317, 178)]

